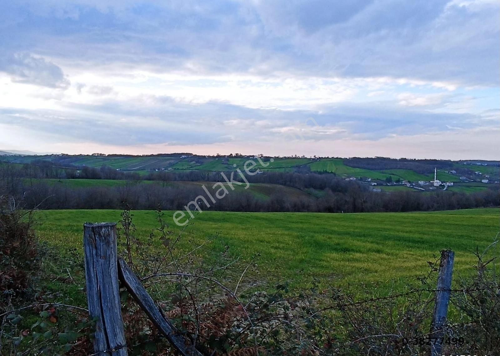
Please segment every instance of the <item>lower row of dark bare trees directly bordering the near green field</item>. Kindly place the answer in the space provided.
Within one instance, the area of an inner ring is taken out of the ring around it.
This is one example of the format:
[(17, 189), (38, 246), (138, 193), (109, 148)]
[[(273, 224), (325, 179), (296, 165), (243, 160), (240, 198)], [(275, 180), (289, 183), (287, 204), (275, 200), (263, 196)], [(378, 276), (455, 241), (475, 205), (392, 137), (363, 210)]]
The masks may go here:
[[(210, 189), (209, 184), (206, 187)], [(19, 189), (22, 194), (18, 195), (22, 195), (27, 207), (38, 206), (42, 209), (119, 209), (126, 202), (134, 209), (154, 209), (159, 204), (163, 210), (182, 210), (200, 195), (211, 205), (208, 208), (198, 199), (201, 210), (256, 212), (432, 211), (491, 207), (497, 206), (500, 201), (500, 194), (493, 190), (474, 194), (440, 191), (384, 194), (363, 189), (357, 183), (337, 186), (337, 191), (326, 188), (320, 198), (305, 194), (301, 197), (290, 196), (279, 186), (268, 199), (256, 197), (244, 189), (228, 189), (229, 193), (215, 204), (211, 204), (202, 187), (196, 185), (165, 186), (127, 181), (116, 187), (71, 188), (35, 182), (31, 185), (20, 184)]]

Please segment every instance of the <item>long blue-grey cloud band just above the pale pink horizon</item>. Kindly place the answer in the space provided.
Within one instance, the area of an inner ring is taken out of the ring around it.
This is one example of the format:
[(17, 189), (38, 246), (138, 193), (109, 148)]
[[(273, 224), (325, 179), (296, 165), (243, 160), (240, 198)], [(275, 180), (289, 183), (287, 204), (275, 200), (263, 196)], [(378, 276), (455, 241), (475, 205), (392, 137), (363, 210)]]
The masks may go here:
[(148, 97), (147, 101), (152, 104), (142, 105), (139, 98), (127, 102), (108, 100), (99, 105), (66, 103), (67, 110), (63, 107), (60, 111), (2, 109), (0, 123), (19, 124), (21, 115), (22, 125), (47, 133), (57, 127), (65, 140), (122, 146), (272, 141), (287, 132), (300, 132), (304, 139), (311, 140), (377, 140), (392, 134), (481, 126), (481, 116), (434, 113), (390, 103), (323, 106), (318, 112), (250, 109), (220, 102), (191, 105), (169, 97)]

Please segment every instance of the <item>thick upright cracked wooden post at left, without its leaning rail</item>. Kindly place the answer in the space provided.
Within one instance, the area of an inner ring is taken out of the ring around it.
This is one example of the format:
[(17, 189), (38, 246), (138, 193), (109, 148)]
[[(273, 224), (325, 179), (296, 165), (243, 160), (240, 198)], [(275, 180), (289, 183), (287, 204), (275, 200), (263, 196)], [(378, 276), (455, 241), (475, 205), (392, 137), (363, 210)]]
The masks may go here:
[(116, 224), (84, 224), (88, 313), (97, 317), (97, 355), (127, 356), (118, 287)]

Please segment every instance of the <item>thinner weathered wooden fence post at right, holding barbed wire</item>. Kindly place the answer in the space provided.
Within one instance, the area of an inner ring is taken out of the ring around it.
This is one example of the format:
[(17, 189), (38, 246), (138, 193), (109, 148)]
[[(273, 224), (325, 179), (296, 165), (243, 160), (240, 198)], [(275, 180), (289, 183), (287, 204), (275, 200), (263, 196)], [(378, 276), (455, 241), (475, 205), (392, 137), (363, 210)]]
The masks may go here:
[[(443, 326), (448, 313), (449, 296), (451, 294), (451, 275), (453, 273), (453, 262), (455, 253), (451, 250), (441, 251), (441, 261), (439, 264), (439, 273), (437, 276), (437, 291), (435, 295), (434, 311), (432, 313), (432, 324), (430, 327), (430, 337), (434, 338), (431, 342), (430, 356), (440, 356), (441, 346), (444, 340)], [(437, 338), (437, 339), (435, 339)]]

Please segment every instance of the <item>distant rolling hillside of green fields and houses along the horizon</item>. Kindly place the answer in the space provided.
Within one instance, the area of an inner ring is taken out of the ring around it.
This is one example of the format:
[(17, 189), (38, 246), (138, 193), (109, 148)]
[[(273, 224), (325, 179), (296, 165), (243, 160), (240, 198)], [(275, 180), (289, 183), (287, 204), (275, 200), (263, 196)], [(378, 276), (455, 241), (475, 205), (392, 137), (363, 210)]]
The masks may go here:
[[(107, 166), (123, 172), (137, 172), (147, 175), (156, 171), (206, 171), (226, 172), (234, 170), (234, 167), (242, 168), (248, 160), (254, 160), (253, 156), (194, 156), (186, 154), (168, 154), (151, 156), (94, 156), (94, 155), (45, 155), (45, 156), (2, 156), (3, 161), (12, 163), (37, 163), (49, 161), (53, 165), (62, 168), (82, 169), (83, 167), (99, 168)], [(442, 182), (460, 182), (461, 177), (467, 180), (480, 182), (485, 176), (491, 182), (500, 180), (500, 167), (498, 162), (464, 163), (435, 160), (406, 160), (398, 165), (398, 160), (388, 160), (389, 167), (383, 164), (378, 169), (367, 169), (354, 167), (351, 159), (344, 158), (273, 158), (263, 157), (266, 166), (261, 167), (264, 172), (317, 172), (334, 173), (342, 178), (356, 178), (385, 181), (431, 181), (433, 180), (433, 167), (437, 168), (437, 179)], [(369, 160), (369, 159), (363, 159)], [(375, 160), (375, 159), (373, 159)], [(380, 160), (377, 158), (377, 160)], [(404, 163), (404, 164), (403, 164)], [(370, 166), (372, 167), (372, 166)], [(410, 167), (410, 168), (408, 168)], [(422, 167), (423, 170), (422, 170)], [(376, 167), (375, 167), (376, 168)], [(479, 172), (475, 173), (475, 172)], [(389, 178), (390, 177), (390, 178)], [(454, 189), (458, 191), (458, 189)], [(463, 189), (462, 189), (463, 190)]]

